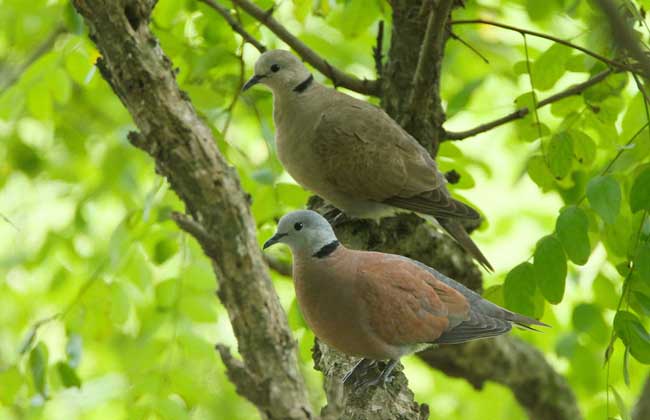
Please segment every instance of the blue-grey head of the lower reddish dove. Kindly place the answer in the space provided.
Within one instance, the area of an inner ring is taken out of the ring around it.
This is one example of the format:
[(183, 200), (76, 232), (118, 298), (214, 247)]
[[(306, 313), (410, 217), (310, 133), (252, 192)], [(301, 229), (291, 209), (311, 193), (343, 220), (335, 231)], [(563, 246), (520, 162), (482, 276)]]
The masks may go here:
[(311, 210), (298, 210), (282, 216), (275, 234), (264, 243), (264, 249), (277, 243), (289, 245), (291, 251), (299, 255), (314, 255), (326, 245), (338, 245), (332, 226)]

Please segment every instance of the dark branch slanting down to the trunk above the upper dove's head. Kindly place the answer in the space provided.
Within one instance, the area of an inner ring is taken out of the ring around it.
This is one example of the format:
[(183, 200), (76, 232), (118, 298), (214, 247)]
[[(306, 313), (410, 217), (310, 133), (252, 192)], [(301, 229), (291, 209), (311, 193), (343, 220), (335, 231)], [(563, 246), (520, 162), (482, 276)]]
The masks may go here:
[(257, 5), (247, 0), (232, 0), (232, 2), (244, 9), (246, 13), (253, 16), (260, 23), (269, 28), (274, 34), (276, 34), (278, 38), (296, 50), (296, 52), (306, 62), (314, 66), (326, 77), (330, 78), (335, 86), (342, 86), (364, 95), (378, 96), (380, 94), (379, 83), (376, 80), (359, 79), (332, 66), (320, 55), (318, 55), (316, 51), (305, 45), (284, 26), (282, 26), (282, 24), (275, 20), (271, 16), (271, 13), (260, 9)]

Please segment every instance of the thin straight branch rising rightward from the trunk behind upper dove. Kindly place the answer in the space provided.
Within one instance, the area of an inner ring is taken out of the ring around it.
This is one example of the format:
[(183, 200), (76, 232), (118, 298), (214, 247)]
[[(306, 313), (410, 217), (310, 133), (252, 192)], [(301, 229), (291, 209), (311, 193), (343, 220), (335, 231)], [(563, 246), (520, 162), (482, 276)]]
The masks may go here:
[[(603, 70), (600, 73), (598, 73), (595, 76), (585, 80), (582, 83), (578, 83), (576, 85), (570, 86), (570, 87), (568, 87), (567, 89), (565, 89), (565, 90), (563, 90), (561, 92), (558, 92), (558, 93), (556, 93), (554, 95), (549, 96), (548, 98), (545, 98), (545, 99), (539, 101), (539, 103), (537, 104), (537, 108), (539, 109), (539, 108), (541, 108), (543, 106), (550, 105), (553, 102), (560, 101), (560, 100), (562, 100), (564, 98), (568, 98), (569, 96), (579, 95), (582, 92), (584, 92), (587, 88), (589, 88), (589, 87), (591, 87), (591, 86), (605, 80), (607, 78), (607, 76), (609, 76), (613, 72), (614, 71), (611, 70), (611, 69)], [(477, 134), (484, 133), (486, 131), (492, 130), (493, 128), (499, 127), (499, 126), (501, 126), (503, 124), (507, 124), (507, 123), (509, 123), (511, 121), (518, 120), (520, 118), (524, 118), (526, 115), (528, 115), (529, 112), (530, 112), (530, 110), (528, 109), (528, 107), (523, 107), (523, 108), (519, 108), (516, 111), (511, 112), (510, 114), (505, 115), (505, 116), (503, 116), (501, 118), (497, 118), (496, 120), (487, 122), (485, 124), (481, 124), (481, 125), (479, 125), (477, 127), (469, 129), (469, 130), (465, 130), (465, 131), (445, 131), (444, 141), (463, 140), (463, 139), (466, 139), (468, 137), (472, 137), (472, 136), (475, 136)]]

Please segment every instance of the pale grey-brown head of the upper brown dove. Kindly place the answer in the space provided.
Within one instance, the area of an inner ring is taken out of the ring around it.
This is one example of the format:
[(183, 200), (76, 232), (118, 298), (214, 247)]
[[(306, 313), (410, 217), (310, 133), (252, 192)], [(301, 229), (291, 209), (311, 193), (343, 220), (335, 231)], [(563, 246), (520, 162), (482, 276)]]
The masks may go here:
[(298, 57), (289, 51), (271, 50), (257, 59), (255, 74), (246, 82), (243, 90), (261, 83), (273, 92), (292, 91), (311, 77), (311, 73)]

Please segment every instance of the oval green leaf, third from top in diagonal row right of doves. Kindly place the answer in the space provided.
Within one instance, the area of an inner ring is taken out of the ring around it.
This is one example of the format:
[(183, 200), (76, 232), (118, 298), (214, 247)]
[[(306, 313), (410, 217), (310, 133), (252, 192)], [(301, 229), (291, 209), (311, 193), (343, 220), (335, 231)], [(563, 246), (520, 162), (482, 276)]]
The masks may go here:
[(552, 304), (560, 303), (564, 296), (567, 266), (562, 244), (556, 237), (545, 236), (537, 242), (533, 265), (537, 286), (544, 298)]

